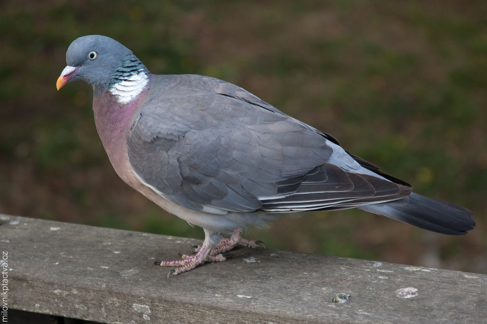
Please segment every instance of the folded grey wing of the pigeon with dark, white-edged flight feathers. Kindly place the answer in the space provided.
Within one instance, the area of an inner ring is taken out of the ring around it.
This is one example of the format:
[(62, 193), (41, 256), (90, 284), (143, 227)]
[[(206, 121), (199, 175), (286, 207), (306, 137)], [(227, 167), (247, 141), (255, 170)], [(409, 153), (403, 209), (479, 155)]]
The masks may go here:
[(129, 139), (134, 171), (170, 201), (214, 214), (292, 212), (353, 208), (411, 192), (330, 163), (341, 147), (327, 134), (242, 88), (209, 83), (213, 88), (190, 99), (168, 95), (143, 109)]

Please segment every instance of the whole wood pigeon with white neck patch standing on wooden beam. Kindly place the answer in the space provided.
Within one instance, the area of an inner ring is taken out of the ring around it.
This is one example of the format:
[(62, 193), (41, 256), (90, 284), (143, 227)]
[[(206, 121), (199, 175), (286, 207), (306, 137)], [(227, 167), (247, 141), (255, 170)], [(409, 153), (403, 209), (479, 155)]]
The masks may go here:
[(225, 261), (236, 245), (263, 246), (243, 230), (294, 212), (358, 208), (452, 235), (475, 226), (470, 210), (413, 193), (333, 136), (231, 83), (151, 74), (99, 35), (75, 39), (66, 63), (57, 89), (75, 80), (93, 86), (96, 129), (120, 178), (205, 231), (193, 254), (156, 262), (177, 267), (168, 277)]

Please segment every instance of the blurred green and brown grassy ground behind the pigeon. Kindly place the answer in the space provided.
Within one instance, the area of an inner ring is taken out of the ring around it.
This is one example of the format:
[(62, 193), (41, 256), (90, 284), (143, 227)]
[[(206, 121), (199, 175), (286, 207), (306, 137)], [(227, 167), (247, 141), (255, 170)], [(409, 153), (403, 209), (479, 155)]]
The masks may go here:
[(487, 273), (486, 12), (485, 0), (2, 1), (0, 212), (203, 238), (117, 177), (90, 86), (56, 91), (69, 44), (101, 34), (152, 73), (235, 83), (477, 222), (451, 237), (347, 210), (247, 237)]

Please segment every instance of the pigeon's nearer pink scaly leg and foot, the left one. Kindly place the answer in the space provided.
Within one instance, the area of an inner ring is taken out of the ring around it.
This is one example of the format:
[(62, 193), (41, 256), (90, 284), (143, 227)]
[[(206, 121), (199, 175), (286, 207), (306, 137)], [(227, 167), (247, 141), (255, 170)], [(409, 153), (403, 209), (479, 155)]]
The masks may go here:
[(160, 265), (161, 267), (179, 267), (174, 270), (170, 270), (168, 273), (168, 278), (170, 276), (175, 276), (182, 272), (189, 271), (191, 269), (196, 268), (200, 264), (205, 262), (221, 262), (225, 261), (226, 258), (230, 255), (222, 255), (222, 254), (212, 254), (211, 249), (217, 245), (216, 242), (220, 240), (222, 237), (221, 234), (212, 233), (207, 230), (205, 231), (205, 241), (201, 246), (200, 250), (196, 255), (190, 255), (190, 258), (183, 259), (183, 260), (176, 260), (176, 261), (156, 261), (154, 264)]

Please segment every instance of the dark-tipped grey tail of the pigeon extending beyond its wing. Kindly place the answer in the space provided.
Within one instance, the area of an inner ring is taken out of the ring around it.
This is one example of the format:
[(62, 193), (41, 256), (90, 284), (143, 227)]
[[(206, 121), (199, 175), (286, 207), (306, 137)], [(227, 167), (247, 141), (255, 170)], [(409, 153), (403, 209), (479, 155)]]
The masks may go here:
[(475, 227), (469, 209), (416, 193), (359, 209), (443, 234), (465, 235)]

